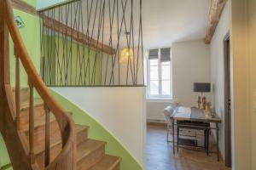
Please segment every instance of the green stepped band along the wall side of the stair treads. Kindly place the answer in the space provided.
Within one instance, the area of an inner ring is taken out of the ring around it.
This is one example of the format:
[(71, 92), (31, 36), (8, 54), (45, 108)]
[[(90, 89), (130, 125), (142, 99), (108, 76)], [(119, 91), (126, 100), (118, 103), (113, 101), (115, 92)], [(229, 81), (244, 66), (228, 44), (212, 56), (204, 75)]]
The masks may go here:
[(125, 147), (113, 136), (113, 134), (109, 133), (108, 130), (101, 125), (101, 123), (96, 122), (96, 120), (83, 109), (79, 108), (77, 105), (74, 105), (71, 101), (64, 98), (60, 94), (57, 94), (53, 90), (51, 90), (51, 92), (55, 96), (55, 99), (57, 99), (61, 105), (67, 109), (67, 111), (73, 112), (73, 120), (76, 124), (90, 127), (88, 133), (90, 139), (106, 141), (108, 143), (106, 152), (113, 156), (122, 157), (121, 170), (143, 169), (136, 159), (131, 156), (129, 151), (126, 150)]

